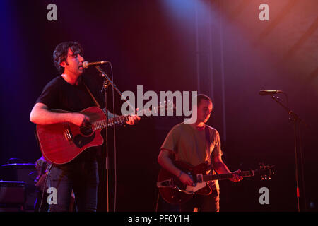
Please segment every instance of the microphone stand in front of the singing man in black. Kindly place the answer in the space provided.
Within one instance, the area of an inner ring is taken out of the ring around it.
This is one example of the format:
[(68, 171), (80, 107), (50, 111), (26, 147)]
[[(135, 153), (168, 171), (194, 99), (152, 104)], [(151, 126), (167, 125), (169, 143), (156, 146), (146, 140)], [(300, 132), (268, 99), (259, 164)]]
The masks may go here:
[[(114, 82), (110, 79), (110, 77), (107, 76), (107, 74), (102, 71), (100, 66), (95, 66), (95, 68), (100, 72), (100, 76), (104, 78), (103, 85), (102, 85), (102, 91), (104, 91), (105, 95), (105, 114), (106, 114), (106, 126), (105, 126), (105, 142), (106, 142), (106, 190), (107, 190), (107, 212), (110, 212), (110, 195), (109, 195), (109, 162), (108, 162), (108, 157), (109, 157), (109, 152), (108, 152), (108, 110), (107, 110), (107, 88), (112, 85), (112, 87), (119, 93), (119, 95), (124, 99), (131, 107), (134, 106), (131, 105), (131, 103), (122, 95), (122, 92), (117, 88), (117, 86), (114, 84)], [(114, 113), (113, 113), (114, 114)], [(115, 124), (114, 124), (115, 126)], [(116, 192), (116, 191), (115, 191)], [(116, 201), (114, 201), (116, 203)]]

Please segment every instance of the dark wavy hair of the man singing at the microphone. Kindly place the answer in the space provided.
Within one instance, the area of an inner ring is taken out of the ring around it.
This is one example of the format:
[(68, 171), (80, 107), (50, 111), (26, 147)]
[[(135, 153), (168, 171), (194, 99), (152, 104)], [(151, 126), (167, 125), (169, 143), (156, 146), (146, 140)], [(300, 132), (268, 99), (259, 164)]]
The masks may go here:
[(78, 42), (62, 42), (58, 44), (53, 52), (53, 61), (57, 71), (59, 71), (60, 74), (64, 72), (64, 67), (62, 67), (60, 64), (61, 62), (66, 61), (69, 49), (71, 49), (73, 54), (80, 54), (81, 56), (84, 54), (83, 48)]

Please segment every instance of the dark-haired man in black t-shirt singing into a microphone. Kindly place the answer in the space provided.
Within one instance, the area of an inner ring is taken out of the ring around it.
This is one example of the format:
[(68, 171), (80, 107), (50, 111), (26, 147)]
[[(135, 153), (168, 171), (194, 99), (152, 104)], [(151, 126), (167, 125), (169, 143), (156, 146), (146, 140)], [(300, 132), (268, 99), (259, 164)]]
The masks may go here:
[[(83, 75), (83, 49), (78, 42), (58, 44), (53, 59), (60, 76), (47, 83), (43, 89), (30, 113), (30, 121), (37, 124), (38, 135), (44, 131), (40, 130), (40, 126), (52, 126), (52, 129), (47, 129), (52, 131), (52, 136), (48, 134), (44, 141), (40, 141), (41, 148), (44, 143), (49, 143), (53, 147), (68, 144), (73, 150), (68, 153), (67, 148), (52, 148), (52, 151), (49, 150), (44, 155), (46, 157), (54, 151), (52, 157), (47, 160), (57, 161), (52, 161), (47, 177), (47, 186), (57, 189), (57, 203), (49, 205), (49, 211), (68, 211), (72, 189), (78, 211), (96, 211), (99, 183), (96, 154), (97, 146), (102, 144), (102, 138), (99, 138), (100, 130), (94, 130), (97, 125), (93, 124), (92, 120), (96, 115), (102, 115), (102, 111), (105, 112), (105, 100), (100, 92), (102, 83), (98, 81), (98, 77)], [(84, 109), (88, 110), (84, 112)], [(110, 112), (108, 115), (109, 118), (115, 117)], [(140, 120), (136, 115), (126, 118), (126, 124), (129, 125)], [(61, 143), (55, 136), (54, 126), (60, 124), (66, 126), (62, 134), (66, 144)], [(81, 128), (84, 135), (73, 137), (74, 134), (70, 132), (71, 126)], [(97, 137), (99, 140), (95, 141)], [(74, 155), (76, 148), (78, 153)]]

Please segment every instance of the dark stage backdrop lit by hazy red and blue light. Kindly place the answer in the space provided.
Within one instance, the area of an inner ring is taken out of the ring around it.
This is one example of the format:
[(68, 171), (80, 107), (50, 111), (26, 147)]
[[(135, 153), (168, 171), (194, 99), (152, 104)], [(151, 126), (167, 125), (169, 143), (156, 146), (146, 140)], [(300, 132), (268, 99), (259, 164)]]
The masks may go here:
[[(52, 3), (57, 21), (47, 20)], [(261, 4), (269, 6), (269, 20), (259, 19)], [(76, 40), (86, 60), (112, 62), (119, 90), (136, 93), (143, 85), (143, 92), (210, 95), (214, 109), (208, 124), (220, 132), (230, 169), (253, 169), (259, 162), (276, 166), (271, 181), (220, 182), (222, 211), (297, 210), (293, 124), (270, 96), (258, 94), (285, 91), (290, 109), (307, 124), (300, 133), (306, 208), (317, 211), (317, 9), (316, 0), (1, 1), (0, 164), (13, 157), (35, 162), (41, 156), (29, 114), (42, 88), (58, 76), (54, 47)], [(86, 73), (97, 74), (95, 69)], [(120, 114), (122, 100), (114, 99)], [(155, 210), (160, 145), (182, 120), (143, 117), (136, 126), (117, 129), (117, 211)], [(110, 130), (111, 197), (113, 146)], [(106, 210), (104, 169), (105, 154), (100, 211)], [(264, 186), (268, 205), (259, 203)]]

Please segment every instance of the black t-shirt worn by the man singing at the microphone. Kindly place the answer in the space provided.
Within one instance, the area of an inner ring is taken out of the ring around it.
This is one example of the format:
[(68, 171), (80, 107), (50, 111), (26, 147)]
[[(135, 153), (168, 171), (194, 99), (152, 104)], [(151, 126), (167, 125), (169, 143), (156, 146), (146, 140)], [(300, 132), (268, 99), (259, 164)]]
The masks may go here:
[[(93, 98), (88, 93), (83, 82), (88, 86), (90, 92), (101, 108), (105, 107), (105, 100), (102, 90), (102, 81), (95, 76), (81, 76), (78, 85), (67, 83), (63, 77), (58, 76), (47, 83), (36, 103), (40, 102), (49, 109), (61, 109), (69, 112), (79, 112), (88, 107), (96, 106)], [(100, 148), (100, 147), (98, 147)], [(88, 148), (78, 155), (71, 162), (81, 162), (86, 160), (95, 160), (98, 148)], [(69, 163), (68, 163), (69, 164)]]

